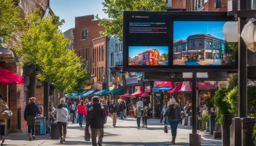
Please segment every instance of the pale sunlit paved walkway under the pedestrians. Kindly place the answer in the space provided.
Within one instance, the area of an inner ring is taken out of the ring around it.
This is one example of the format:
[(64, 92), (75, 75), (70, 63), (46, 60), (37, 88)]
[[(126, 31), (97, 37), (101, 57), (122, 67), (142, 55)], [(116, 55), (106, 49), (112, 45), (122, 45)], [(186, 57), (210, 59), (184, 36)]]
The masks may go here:
[[(184, 120), (183, 120), (184, 121)], [(171, 143), (171, 133), (164, 133), (164, 127), (161, 127), (159, 119), (148, 119), (148, 128), (137, 129), (136, 119), (129, 116), (128, 119), (118, 120), (116, 127), (112, 125), (112, 119), (108, 117), (107, 124), (104, 127), (103, 145), (105, 146), (168, 146)], [(191, 133), (191, 126), (184, 127), (178, 125), (176, 144), (177, 146), (189, 146), (189, 133)], [(208, 132), (198, 131), (202, 138), (202, 145), (207, 146), (221, 146), (220, 139), (213, 139), (213, 135)], [(36, 136), (36, 140), (28, 141), (28, 134), (11, 133), (6, 137), (4, 145), (26, 145), (26, 146), (51, 146), (51, 145), (92, 145), (91, 142), (84, 140), (84, 125), (79, 127), (77, 123), (68, 124), (66, 142), (59, 143), (58, 139), (51, 139), (49, 134), (44, 136)]]

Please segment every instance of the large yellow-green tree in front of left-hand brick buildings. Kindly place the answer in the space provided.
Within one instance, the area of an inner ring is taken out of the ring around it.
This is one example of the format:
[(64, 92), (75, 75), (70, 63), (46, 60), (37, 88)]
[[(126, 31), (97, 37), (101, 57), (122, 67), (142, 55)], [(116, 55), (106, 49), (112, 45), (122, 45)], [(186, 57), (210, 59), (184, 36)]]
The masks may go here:
[(28, 30), (15, 48), (22, 63), (36, 63), (41, 73), (37, 78), (50, 81), (59, 92), (81, 91), (89, 84), (90, 73), (82, 68), (80, 58), (73, 50), (66, 49), (70, 41), (58, 28), (65, 21), (58, 16), (41, 19), (39, 8), (29, 15)]

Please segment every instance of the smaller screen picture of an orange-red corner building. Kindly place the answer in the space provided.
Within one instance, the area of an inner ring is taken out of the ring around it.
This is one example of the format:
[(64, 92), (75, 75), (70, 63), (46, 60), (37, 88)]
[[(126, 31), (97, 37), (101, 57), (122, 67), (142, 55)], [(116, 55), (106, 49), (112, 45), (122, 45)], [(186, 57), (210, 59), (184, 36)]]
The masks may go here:
[(168, 46), (129, 46), (129, 65), (168, 65)]

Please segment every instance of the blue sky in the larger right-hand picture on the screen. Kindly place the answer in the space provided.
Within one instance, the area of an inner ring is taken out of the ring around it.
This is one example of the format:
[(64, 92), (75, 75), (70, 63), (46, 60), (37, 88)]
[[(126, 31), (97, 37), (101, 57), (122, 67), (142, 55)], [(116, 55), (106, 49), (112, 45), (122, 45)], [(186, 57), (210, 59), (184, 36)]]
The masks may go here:
[(214, 37), (224, 39), (222, 27), (223, 21), (174, 21), (173, 39), (187, 39), (190, 35), (206, 34), (208, 24), (208, 33)]

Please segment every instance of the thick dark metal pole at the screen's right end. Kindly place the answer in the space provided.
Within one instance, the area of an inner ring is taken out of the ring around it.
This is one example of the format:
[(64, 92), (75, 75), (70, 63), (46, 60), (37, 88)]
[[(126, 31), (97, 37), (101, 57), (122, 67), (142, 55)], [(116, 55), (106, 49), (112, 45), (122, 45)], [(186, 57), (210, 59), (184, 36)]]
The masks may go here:
[[(240, 10), (247, 9), (247, 1), (239, 0)], [(247, 48), (241, 32), (247, 18), (238, 18), (238, 117), (247, 117)]]

